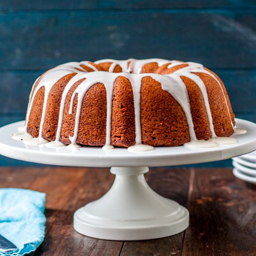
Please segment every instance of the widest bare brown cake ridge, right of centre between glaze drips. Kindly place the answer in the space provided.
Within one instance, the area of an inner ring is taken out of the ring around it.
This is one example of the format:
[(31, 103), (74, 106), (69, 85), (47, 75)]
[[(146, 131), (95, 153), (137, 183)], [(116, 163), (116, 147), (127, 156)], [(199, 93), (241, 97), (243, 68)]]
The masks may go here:
[(180, 104), (150, 76), (141, 81), (141, 137), (151, 146), (179, 146), (190, 141)]

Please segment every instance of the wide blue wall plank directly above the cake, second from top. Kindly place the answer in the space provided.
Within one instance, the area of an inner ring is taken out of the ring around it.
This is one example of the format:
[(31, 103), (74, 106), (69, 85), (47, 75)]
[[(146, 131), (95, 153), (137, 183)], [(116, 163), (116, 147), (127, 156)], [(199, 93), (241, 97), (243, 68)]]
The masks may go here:
[(256, 67), (254, 9), (24, 11), (0, 15), (0, 24), (2, 70), (155, 56), (209, 68)]

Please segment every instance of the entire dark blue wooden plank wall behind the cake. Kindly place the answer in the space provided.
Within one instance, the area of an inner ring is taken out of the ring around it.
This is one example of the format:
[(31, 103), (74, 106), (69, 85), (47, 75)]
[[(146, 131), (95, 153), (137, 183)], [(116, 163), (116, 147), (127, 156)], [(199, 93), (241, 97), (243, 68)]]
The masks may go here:
[(130, 57), (202, 63), (222, 78), (236, 117), (256, 121), (256, 0), (0, 0), (0, 126), (24, 119), (48, 68)]

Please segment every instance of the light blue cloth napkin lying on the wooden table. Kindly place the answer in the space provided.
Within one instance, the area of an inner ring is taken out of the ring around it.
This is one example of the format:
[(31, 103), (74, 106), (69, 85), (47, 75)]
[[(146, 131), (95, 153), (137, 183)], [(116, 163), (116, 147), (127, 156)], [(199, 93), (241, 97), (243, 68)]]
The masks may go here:
[(28, 254), (43, 242), (46, 217), (45, 194), (28, 189), (0, 189), (0, 234), (18, 249), (13, 254)]

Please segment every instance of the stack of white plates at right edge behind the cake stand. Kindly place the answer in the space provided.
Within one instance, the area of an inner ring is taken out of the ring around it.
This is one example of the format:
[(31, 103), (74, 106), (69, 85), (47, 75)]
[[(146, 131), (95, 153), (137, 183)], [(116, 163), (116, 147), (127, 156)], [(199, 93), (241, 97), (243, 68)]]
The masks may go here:
[(256, 184), (256, 151), (232, 158), (236, 178)]

